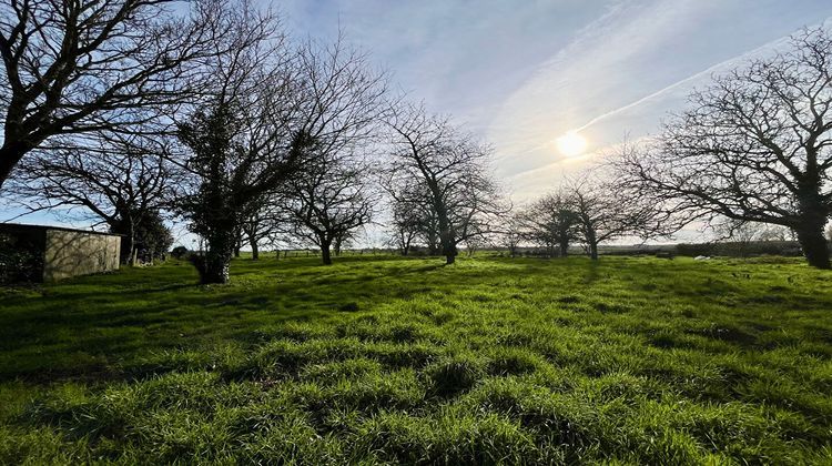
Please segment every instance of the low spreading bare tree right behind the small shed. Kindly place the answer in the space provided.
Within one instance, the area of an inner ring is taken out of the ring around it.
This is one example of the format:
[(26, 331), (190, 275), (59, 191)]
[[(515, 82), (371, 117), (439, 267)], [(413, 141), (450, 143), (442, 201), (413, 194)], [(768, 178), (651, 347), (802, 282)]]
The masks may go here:
[(9, 191), (29, 213), (62, 210), (105, 223), (122, 235), (122, 262), (133, 262), (143, 249), (136, 242), (142, 222), (158, 222), (170, 205), (176, 176), (165, 159), (170, 141), (98, 132), (83, 143), (35, 151), (21, 162)]

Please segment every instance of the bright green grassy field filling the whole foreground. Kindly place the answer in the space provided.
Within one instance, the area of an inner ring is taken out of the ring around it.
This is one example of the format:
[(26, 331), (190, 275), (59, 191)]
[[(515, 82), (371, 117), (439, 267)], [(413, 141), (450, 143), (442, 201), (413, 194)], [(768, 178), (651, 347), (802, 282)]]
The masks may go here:
[(440, 263), (0, 291), (0, 464), (832, 464), (832, 273)]

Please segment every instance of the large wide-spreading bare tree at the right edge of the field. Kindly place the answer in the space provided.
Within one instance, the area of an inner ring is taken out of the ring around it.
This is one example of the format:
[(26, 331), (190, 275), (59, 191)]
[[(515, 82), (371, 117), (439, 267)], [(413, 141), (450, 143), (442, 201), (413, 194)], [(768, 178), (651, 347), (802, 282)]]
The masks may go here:
[(832, 38), (806, 30), (791, 50), (714, 79), (655, 144), (618, 160), (621, 184), (686, 222), (720, 216), (792, 229), (829, 269)]

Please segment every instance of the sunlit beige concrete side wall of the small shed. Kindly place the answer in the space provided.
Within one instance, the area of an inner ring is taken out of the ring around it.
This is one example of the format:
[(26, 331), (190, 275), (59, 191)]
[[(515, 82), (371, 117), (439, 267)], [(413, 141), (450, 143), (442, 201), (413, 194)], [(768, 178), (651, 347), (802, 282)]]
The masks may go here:
[(121, 236), (47, 230), (43, 281), (119, 270)]

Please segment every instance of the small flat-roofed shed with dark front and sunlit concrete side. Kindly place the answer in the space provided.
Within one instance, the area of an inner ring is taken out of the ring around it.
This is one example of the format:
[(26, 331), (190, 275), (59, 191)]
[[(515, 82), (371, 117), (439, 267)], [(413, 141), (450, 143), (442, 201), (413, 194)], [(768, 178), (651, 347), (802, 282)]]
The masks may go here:
[(54, 282), (119, 270), (121, 236), (61, 226), (0, 223), (7, 281)]

